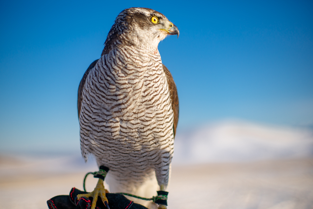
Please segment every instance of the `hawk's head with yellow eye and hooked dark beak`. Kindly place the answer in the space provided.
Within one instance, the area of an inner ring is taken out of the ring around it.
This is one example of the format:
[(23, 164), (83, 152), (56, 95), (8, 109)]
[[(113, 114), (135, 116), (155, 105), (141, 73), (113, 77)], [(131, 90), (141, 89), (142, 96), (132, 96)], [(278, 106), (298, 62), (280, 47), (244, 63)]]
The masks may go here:
[(144, 45), (157, 48), (167, 35), (179, 36), (179, 30), (162, 13), (149, 8), (128, 8), (115, 19), (102, 54), (114, 47)]

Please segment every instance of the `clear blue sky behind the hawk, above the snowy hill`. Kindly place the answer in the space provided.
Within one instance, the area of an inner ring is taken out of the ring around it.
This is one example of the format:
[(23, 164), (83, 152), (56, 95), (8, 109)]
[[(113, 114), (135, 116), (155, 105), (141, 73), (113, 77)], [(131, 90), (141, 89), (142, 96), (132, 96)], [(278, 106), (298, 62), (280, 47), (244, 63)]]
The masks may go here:
[(129, 7), (180, 30), (159, 44), (178, 131), (228, 118), (313, 127), (312, 1), (2, 1), (0, 151), (79, 149), (78, 84)]

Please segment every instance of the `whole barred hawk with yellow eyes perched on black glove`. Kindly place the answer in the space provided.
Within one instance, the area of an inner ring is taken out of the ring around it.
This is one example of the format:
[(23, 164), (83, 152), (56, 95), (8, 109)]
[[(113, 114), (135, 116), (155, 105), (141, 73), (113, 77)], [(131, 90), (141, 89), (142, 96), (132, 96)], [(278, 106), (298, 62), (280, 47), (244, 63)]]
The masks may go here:
[[(78, 88), (81, 153), (109, 168), (110, 192), (151, 197), (170, 178), (178, 95), (158, 44), (178, 28), (162, 13), (128, 8), (115, 19), (99, 60)], [(92, 194), (107, 200), (103, 180)], [(156, 208), (153, 202), (140, 202)], [(95, 207), (95, 204), (92, 204)], [(92, 208), (92, 209), (93, 209)], [(159, 204), (159, 208), (166, 208)]]

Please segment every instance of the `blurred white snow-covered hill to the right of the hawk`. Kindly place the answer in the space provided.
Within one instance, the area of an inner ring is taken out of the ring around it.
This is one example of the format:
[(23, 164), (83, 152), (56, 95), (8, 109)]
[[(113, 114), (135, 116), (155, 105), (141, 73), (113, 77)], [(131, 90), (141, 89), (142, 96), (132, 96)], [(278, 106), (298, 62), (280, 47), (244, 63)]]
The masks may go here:
[(173, 165), (312, 156), (312, 129), (224, 121), (177, 131)]

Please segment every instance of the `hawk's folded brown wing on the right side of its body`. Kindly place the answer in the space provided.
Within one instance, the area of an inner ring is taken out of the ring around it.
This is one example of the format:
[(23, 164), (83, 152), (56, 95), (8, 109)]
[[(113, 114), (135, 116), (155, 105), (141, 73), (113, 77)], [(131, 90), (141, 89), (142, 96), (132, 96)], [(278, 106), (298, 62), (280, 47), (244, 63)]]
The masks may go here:
[(171, 94), (172, 108), (173, 108), (173, 112), (174, 112), (173, 129), (174, 129), (174, 137), (175, 137), (176, 127), (177, 127), (177, 123), (178, 123), (178, 112), (179, 112), (177, 88), (176, 88), (174, 79), (173, 79), (170, 71), (167, 69), (167, 67), (165, 67), (165, 65), (162, 64), (162, 66), (163, 66), (163, 71), (164, 71), (165, 75), (167, 76), (168, 88), (169, 88), (170, 94)]

